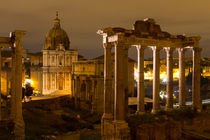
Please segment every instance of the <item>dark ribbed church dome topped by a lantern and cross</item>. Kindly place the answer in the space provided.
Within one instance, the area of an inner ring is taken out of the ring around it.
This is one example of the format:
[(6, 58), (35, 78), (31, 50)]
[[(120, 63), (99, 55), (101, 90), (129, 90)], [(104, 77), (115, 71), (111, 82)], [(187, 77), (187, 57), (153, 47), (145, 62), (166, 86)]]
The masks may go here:
[(58, 13), (56, 19), (54, 19), (54, 26), (46, 34), (45, 38), (45, 50), (56, 50), (59, 46), (63, 46), (65, 50), (69, 50), (69, 37), (67, 33), (60, 26), (60, 19), (58, 19)]

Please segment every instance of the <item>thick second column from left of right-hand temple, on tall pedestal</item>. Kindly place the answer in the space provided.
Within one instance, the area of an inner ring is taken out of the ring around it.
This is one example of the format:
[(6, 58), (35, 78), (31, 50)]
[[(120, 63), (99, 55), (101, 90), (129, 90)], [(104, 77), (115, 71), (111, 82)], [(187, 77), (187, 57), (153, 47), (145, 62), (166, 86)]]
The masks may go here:
[[(121, 140), (130, 139), (130, 129), (128, 123), (125, 122), (126, 116), (126, 83), (128, 76), (125, 73), (128, 65), (126, 65), (125, 57), (128, 47), (123, 42), (115, 44), (115, 100), (114, 100), (114, 138)], [(128, 73), (128, 72), (127, 72)]]

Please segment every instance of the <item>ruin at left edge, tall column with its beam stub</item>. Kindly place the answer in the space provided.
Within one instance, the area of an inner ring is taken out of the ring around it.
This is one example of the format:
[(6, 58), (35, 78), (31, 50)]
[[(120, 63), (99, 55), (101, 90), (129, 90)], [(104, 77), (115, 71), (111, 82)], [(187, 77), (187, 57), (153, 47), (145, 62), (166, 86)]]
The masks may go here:
[[(10, 37), (0, 37), (0, 54), (2, 47), (11, 48), (13, 50), (12, 86), (11, 86), (12, 100), (11, 100), (10, 119), (14, 123), (14, 135), (15, 138), (18, 140), (25, 139), (25, 126), (22, 116), (22, 43), (21, 43), (21, 38), (23, 37), (24, 34), (25, 31), (16, 30), (10, 33)], [(1, 115), (2, 114), (0, 112), (0, 116)]]

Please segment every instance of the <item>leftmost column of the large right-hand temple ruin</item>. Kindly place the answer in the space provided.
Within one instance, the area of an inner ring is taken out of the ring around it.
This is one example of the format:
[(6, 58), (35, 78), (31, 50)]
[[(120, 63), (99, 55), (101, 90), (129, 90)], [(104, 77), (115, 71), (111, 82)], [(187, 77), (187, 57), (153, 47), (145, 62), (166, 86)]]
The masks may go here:
[(103, 118), (112, 118), (111, 94), (112, 94), (112, 54), (111, 44), (103, 44), (104, 47), (104, 114)]

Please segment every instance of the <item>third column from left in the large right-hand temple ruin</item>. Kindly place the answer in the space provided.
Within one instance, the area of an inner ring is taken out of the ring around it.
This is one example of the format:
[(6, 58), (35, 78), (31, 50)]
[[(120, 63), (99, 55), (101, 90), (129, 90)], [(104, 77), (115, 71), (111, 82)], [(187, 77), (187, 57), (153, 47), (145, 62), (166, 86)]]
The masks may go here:
[(136, 46), (138, 52), (138, 81), (137, 81), (137, 111), (144, 113), (144, 49), (145, 47)]

